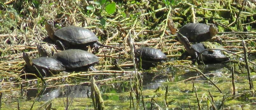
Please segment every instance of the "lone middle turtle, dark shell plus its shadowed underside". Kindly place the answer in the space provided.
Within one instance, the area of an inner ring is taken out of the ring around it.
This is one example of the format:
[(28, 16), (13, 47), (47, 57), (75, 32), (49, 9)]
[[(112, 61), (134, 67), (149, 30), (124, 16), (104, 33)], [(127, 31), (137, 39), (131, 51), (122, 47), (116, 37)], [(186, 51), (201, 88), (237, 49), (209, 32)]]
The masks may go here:
[(137, 61), (141, 58), (142, 68), (149, 68), (167, 60), (167, 56), (161, 50), (149, 47), (135, 49), (134, 54)]

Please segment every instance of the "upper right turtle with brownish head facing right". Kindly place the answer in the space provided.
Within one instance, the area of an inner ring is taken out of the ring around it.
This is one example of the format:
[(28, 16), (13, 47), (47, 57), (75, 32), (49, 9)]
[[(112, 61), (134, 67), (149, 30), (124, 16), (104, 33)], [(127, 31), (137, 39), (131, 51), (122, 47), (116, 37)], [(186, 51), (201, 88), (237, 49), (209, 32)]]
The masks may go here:
[[(207, 25), (203, 23), (188, 23), (181, 27), (178, 31), (183, 36), (188, 38), (189, 42), (199, 43), (211, 39), (218, 33), (217, 27), (213, 24)], [(178, 40), (178, 36), (175, 40)]]

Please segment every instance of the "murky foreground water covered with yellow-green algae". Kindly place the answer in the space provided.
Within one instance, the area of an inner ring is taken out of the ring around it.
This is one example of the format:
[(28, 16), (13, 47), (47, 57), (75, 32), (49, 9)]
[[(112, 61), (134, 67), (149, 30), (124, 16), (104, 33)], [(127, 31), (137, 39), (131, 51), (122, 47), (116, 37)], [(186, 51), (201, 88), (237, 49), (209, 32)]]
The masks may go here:
[[(143, 97), (147, 109), (150, 109), (151, 98), (157, 101), (160, 107), (164, 106), (164, 96), (166, 92), (166, 86), (168, 85), (167, 99), (169, 102), (169, 109), (188, 108), (188, 101), (192, 109), (197, 108), (197, 101), (195, 93), (192, 92), (192, 80), (197, 87), (197, 94), (201, 100), (203, 108), (207, 108), (207, 96), (209, 91), (213, 94), (216, 107), (221, 105), (223, 95), (226, 94), (226, 101), (224, 103), (224, 109), (240, 109), (243, 108), (254, 109), (255, 96), (253, 92), (248, 91), (248, 82), (245, 77), (237, 77), (236, 89), (237, 94), (242, 94), (237, 97), (232, 95), (231, 84), (231, 72), (224, 64), (208, 64), (198, 65), (198, 67), (206, 76), (217, 84), (217, 86), (223, 91), (223, 94), (219, 93), (216, 87), (214, 87), (204, 77), (199, 77), (199, 72), (191, 71), (188, 69), (178, 70), (178, 68), (164, 68), (164, 71), (160, 73), (143, 73)], [(168, 74), (168, 75), (164, 75)], [(246, 74), (244, 74), (246, 75)], [(198, 76), (198, 77), (197, 77)], [(191, 80), (185, 79), (194, 77)], [(255, 77), (255, 73), (252, 73), (252, 77)], [(253, 82), (256, 85), (256, 82)], [(17, 86), (18, 85), (13, 85)], [(115, 79), (111, 81), (98, 83), (98, 87), (101, 90), (103, 100), (107, 109), (127, 109), (130, 107), (130, 79)], [(93, 109), (93, 105), (90, 99), (90, 87), (89, 85), (75, 85), (75, 86), (63, 86), (63, 87), (49, 87), (46, 88), (43, 95), (39, 98), (37, 94), (41, 89), (24, 89), (21, 96), (20, 90), (11, 90), (10, 92), (4, 92), (2, 97), (2, 109), (17, 108), (17, 102), (22, 109), (30, 109), (33, 101), (36, 101), (34, 108), (39, 108), (44, 104), (53, 103), (53, 108), (64, 109), (66, 100), (70, 102), (70, 109)], [(247, 92), (247, 93), (246, 93)], [(136, 107), (136, 99), (133, 96), (133, 101)], [(44, 105), (45, 106), (45, 105)], [(142, 108), (142, 104), (139, 104)], [(41, 109), (44, 107), (41, 107)], [(133, 107), (132, 107), (133, 108)]]

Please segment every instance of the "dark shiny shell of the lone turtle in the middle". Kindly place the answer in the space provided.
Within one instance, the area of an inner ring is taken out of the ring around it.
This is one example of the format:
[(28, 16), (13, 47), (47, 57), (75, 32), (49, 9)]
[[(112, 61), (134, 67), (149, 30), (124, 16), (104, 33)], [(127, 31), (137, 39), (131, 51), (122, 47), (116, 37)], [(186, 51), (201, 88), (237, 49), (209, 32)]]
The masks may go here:
[(146, 61), (165, 61), (167, 60), (167, 56), (159, 49), (143, 47), (139, 49), (135, 49), (135, 57), (139, 58), (141, 54), (141, 59)]

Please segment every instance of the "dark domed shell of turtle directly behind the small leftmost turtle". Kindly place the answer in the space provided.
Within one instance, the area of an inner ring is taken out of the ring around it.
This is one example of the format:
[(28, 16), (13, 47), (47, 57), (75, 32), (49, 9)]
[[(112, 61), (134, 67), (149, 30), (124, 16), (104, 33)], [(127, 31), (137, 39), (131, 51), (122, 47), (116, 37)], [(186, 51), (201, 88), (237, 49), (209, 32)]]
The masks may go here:
[(99, 61), (94, 54), (80, 49), (64, 50), (53, 55), (53, 57), (62, 62), (67, 69), (89, 67)]

